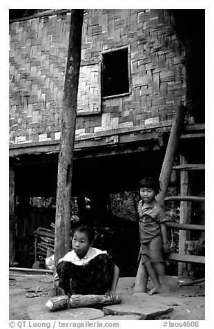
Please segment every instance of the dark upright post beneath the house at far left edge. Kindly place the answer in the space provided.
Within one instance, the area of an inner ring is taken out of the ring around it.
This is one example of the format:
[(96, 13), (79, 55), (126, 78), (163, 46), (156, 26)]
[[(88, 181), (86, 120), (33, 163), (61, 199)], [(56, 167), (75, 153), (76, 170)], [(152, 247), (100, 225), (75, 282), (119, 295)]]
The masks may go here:
[(16, 238), (16, 223), (14, 214), (14, 167), (9, 167), (9, 263), (14, 262), (15, 256), (15, 238)]

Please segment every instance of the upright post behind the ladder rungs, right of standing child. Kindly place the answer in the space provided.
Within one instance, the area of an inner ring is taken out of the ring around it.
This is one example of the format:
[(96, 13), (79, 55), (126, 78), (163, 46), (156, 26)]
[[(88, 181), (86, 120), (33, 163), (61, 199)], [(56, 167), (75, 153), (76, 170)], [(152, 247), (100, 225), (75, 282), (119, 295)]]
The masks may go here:
[[(180, 156), (180, 164), (187, 164), (187, 160), (184, 156)], [(181, 170), (180, 172), (180, 195), (191, 195), (189, 185), (189, 173), (188, 171)], [(180, 223), (191, 223), (191, 202), (181, 201), (180, 203)], [(179, 254), (185, 254), (185, 243), (190, 237), (190, 232), (186, 230), (179, 231)], [(185, 263), (178, 263), (178, 275), (181, 276), (186, 267)]]

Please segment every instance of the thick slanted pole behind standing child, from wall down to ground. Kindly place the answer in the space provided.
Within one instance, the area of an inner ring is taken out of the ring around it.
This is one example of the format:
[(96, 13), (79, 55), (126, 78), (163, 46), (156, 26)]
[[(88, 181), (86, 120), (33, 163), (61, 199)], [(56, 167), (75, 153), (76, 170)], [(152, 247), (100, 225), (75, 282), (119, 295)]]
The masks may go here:
[[(182, 124), (184, 123), (185, 115), (186, 115), (186, 106), (179, 106), (179, 109), (177, 109), (175, 113), (173, 126), (166, 147), (164, 162), (162, 164), (162, 171), (159, 176), (159, 181), (161, 182), (162, 190), (158, 194), (157, 200), (162, 206), (164, 206), (164, 199), (166, 197), (168, 183), (171, 178), (171, 172), (175, 160), (175, 154), (177, 151), (177, 144), (179, 142), (179, 136), (182, 130)], [(142, 262), (140, 261), (137, 271), (137, 276), (135, 279), (134, 292), (144, 292), (145, 287), (147, 285), (147, 281), (148, 281), (148, 276), (146, 275), (145, 269), (142, 266)]]

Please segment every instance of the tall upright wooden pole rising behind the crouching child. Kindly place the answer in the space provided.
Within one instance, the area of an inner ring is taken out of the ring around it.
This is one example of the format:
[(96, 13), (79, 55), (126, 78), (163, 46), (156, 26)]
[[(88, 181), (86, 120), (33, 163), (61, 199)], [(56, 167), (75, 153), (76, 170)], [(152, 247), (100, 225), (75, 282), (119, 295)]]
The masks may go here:
[(64, 84), (61, 120), (61, 140), (57, 177), (57, 205), (55, 217), (55, 262), (70, 250), (70, 215), (72, 194), (72, 159), (75, 145), (77, 91), (81, 60), (81, 30), (83, 9), (71, 10), (68, 59)]

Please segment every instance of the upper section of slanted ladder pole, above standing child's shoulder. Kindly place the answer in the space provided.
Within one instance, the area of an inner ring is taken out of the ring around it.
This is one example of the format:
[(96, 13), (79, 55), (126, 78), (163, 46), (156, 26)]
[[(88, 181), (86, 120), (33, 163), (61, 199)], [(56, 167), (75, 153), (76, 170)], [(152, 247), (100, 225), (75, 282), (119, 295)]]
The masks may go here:
[(181, 133), (182, 124), (184, 123), (185, 115), (186, 115), (186, 106), (179, 106), (179, 109), (177, 109), (177, 111), (175, 112), (175, 119), (173, 121), (171, 134), (168, 138), (168, 144), (166, 148), (164, 162), (162, 164), (162, 171), (159, 176), (159, 181), (161, 182), (162, 190), (157, 196), (157, 201), (162, 206), (164, 206), (164, 198), (166, 196), (168, 183), (171, 178), (171, 172), (175, 160), (175, 154), (177, 152), (177, 144), (179, 142), (179, 136)]

